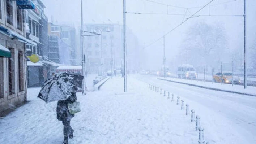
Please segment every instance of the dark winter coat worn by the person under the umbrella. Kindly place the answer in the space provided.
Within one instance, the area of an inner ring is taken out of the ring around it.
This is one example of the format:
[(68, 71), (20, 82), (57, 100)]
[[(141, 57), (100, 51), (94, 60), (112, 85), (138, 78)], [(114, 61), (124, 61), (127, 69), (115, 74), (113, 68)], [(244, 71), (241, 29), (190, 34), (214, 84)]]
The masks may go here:
[(76, 93), (69, 96), (67, 100), (59, 100), (57, 103), (57, 119), (59, 121), (67, 121), (74, 117), (74, 114), (69, 113), (68, 104), (76, 102)]

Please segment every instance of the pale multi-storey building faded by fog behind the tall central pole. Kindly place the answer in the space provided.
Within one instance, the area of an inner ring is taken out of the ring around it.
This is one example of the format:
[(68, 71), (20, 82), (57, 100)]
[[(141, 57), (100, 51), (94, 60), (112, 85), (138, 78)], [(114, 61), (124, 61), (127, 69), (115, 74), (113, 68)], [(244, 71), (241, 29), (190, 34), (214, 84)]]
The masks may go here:
[[(123, 67), (123, 25), (91, 24), (85, 25), (86, 31), (97, 32), (97, 36), (85, 36), (86, 69), (91, 73), (99, 73), (101, 69), (101, 52), (103, 57), (103, 73), (111, 70), (111, 55), (113, 69)], [(110, 31), (107, 31), (107, 30)], [(102, 37), (102, 38), (101, 38)], [(112, 42), (111, 42), (112, 37)], [(102, 50), (101, 51), (101, 40)], [(112, 44), (111, 44), (112, 43)], [(112, 54), (111, 54), (112, 47)], [(141, 46), (136, 35), (127, 28), (127, 68), (135, 71), (140, 68)]]

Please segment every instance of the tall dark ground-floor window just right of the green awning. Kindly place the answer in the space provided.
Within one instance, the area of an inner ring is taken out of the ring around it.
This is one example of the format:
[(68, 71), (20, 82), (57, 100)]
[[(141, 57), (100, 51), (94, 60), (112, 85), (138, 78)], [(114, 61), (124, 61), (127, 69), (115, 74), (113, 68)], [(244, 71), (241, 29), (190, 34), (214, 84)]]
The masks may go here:
[(12, 57), (8, 58), (9, 95), (15, 93), (15, 53), (14, 48), (9, 48)]

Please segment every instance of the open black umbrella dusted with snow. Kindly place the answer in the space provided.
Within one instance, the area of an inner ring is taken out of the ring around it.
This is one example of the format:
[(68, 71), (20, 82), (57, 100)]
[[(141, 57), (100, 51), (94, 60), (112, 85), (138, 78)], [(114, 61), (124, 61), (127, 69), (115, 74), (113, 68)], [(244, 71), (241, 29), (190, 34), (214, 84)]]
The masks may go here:
[(46, 80), (38, 96), (46, 103), (52, 101), (66, 100), (72, 93), (77, 91), (77, 87), (82, 87), (84, 76), (64, 72)]

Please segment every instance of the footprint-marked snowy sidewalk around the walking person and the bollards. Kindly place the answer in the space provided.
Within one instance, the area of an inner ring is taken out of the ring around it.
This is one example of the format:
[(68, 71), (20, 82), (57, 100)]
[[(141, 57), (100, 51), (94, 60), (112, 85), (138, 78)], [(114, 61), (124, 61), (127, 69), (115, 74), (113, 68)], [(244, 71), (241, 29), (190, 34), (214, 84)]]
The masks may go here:
[[(85, 96), (77, 93), (82, 111), (71, 121), (75, 131), (69, 144), (198, 143), (195, 122), (190, 122), (191, 115), (186, 116), (180, 105), (149, 90), (144, 82), (128, 78), (128, 84), (129, 92), (123, 93), (123, 79), (114, 77), (100, 91), (88, 92)], [(37, 98), (39, 90), (29, 89), (30, 102), (0, 119), (0, 143), (62, 143), (63, 126), (56, 119), (56, 102), (45, 104)], [(247, 143), (229, 121), (215, 113), (201, 115), (201, 118), (206, 141)]]

